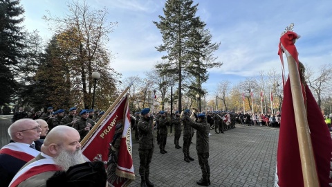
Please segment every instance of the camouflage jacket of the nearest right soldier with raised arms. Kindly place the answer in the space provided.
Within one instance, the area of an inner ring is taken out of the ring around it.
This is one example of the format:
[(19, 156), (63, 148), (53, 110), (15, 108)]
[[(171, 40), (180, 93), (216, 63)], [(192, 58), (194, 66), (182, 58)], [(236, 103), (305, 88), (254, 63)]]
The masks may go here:
[(210, 125), (206, 120), (201, 121), (201, 123), (195, 123), (189, 117), (186, 118), (186, 121), (196, 129), (196, 150), (197, 153), (209, 152), (209, 133)]

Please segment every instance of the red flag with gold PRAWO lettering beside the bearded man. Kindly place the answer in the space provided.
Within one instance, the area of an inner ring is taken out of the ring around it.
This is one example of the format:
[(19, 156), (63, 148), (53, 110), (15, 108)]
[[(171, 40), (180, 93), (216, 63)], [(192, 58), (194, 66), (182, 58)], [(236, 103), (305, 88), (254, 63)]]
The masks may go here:
[[(115, 173), (108, 173), (108, 176), (113, 175), (116, 179), (112, 182), (108, 180), (109, 186), (127, 186), (131, 180), (135, 179), (129, 114), (128, 96), (125, 96), (114, 107), (113, 112), (104, 118), (104, 121), (100, 123), (100, 127), (95, 130), (89, 141), (86, 141), (86, 144), (82, 147), (82, 153), (89, 161), (97, 159), (107, 163), (109, 161), (109, 150), (115, 150), (114, 146), (111, 148), (111, 143), (116, 140), (120, 141), (119, 148), (116, 148), (118, 160), (116, 168), (114, 168)], [(120, 128), (116, 129), (118, 127)], [(120, 134), (120, 139), (116, 139), (115, 134)]]

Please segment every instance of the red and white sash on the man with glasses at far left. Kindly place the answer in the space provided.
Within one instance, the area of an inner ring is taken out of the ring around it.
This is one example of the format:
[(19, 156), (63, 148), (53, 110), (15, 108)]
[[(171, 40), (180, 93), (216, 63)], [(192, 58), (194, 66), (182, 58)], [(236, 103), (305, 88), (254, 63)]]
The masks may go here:
[(29, 148), (26, 145), (22, 145), (21, 143), (9, 143), (8, 145), (3, 146), (0, 150), (0, 154), (9, 154), (12, 157), (20, 159), (22, 161), (30, 161), (34, 159), (40, 152)]

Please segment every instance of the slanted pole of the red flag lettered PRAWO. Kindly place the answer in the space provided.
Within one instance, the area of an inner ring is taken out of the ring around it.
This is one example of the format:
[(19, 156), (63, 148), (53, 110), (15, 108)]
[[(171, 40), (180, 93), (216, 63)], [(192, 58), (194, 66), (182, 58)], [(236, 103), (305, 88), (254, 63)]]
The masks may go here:
[[(136, 78), (133, 80), (135, 81)], [(92, 134), (95, 132), (95, 130), (97, 130), (97, 128), (99, 127), (100, 123), (102, 123), (102, 121), (104, 121), (104, 118), (106, 118), (109, 113), (111, 113), (114, 109), (114, 107), (116, 107), (116, 105), (119, 103), (119, 100), (124, 96), (124, 94), (127, 93), (128, 89), (131, 87), (131, 85), (133, 84), (133, 81), (130, 82), (129, 86), (124, 89), (124, 91), (122, 91), (122, 93), (120, 94), (120, 96), (118, 96), (118, 98), (113, 102), (113, 104), (111, 105), (111, 107), (109, 107), (109, 109), (107, 109), (107, 112), (104, 113), (104, 115), (102, 115), (102, 118), (100, 118), (100, 120), (92, 127), (92, 129), (89, 131), (88, 134), (86, 134), (86, 136), (84, 137), (84, 139), (82, 139), (82, 141), (80, 142), (82, 147), (84, 147), (86, 141), (88, 141), (90, 139), (90, 137), (92, 136)]]

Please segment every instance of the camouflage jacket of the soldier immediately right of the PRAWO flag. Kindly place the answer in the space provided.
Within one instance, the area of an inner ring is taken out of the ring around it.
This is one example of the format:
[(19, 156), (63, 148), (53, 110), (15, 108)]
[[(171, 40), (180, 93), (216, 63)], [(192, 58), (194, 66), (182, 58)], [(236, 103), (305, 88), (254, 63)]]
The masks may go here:
[(138, 122), (140, 145), (138, 150), (149, 150), (154, 148), (154, 123), (153, 118), (140, 118)]

